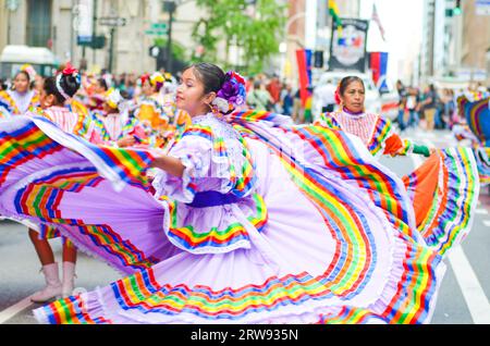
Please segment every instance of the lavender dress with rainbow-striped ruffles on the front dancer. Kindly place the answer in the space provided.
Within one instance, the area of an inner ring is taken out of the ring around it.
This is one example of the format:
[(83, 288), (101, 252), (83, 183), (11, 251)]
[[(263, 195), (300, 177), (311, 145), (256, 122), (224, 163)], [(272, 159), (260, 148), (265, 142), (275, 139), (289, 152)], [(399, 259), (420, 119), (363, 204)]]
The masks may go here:
[[(445, 267), (403, 182), (355, 136), (267, 112), (193, 119), (169, 155), (0, 122), (0, 212), (56, 224), (128, 275), (45, 323), (427, 323)], [(15, 141), (15, 150), (7, 146)]]

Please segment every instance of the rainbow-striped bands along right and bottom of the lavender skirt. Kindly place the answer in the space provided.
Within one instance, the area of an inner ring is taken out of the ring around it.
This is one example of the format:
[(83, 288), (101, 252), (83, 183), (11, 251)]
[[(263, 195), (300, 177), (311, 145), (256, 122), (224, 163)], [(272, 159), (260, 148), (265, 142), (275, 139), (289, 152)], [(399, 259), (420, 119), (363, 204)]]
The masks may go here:
[[(50, 323), (114, 323), (114, 319), (125, 314), (143, 323), (428, 321), (444, 267), (441, 257), (397, 228), (391, 249), (391, 274), (387, 277), (384, 291), (378, 299), (366, 302), (364, 307), (351, 306), (352, 299), (369, 285), (380, 255), (378, 251), (382, 251), (375, 246), (372, 230), (363, 211), (348, 201), (342, 189), (335, 188), (332, 180), (314, 166), (304, 165), (291, 150), (281, 146), (274, 128), (262, 126), (260, 122), (240, 125), (248, 129), (242, 133), (243, 136), (255, 133), (255, 138), (260, 138), (272, 152), (278, 153), (294, 185), (329, 225), (336, 248), (332, 262), (323, 273), (269, 276), (261, 284), (212, 289), (205, 285), (191, 286), (185, 282), (161, 283), (156, 274), (160, 265), (157, 264), (111, 284), (110, 289), (71, 297), (37, 309), (36, 317)], [(369, 155), (359, 157), (348, 136), (315, 126), (295, 128), (289, 135), (291, 145), (305, 143), (313, 150), (311, 155), (320, 156), (340, 178), (371, 190), (373, 200), (384, 206), (384, 212), (392, 213), (393, 220), (404, 223), (405, 219), (409, 219), (401, 208), (408, 200), (403, 195), (403, 184), (390, 181), (389, 174), (383, 174), (373, 161), (369, 162), (372, 158)], [(388, 198), (394, 198), (396, 194), (400, 194), (401, 201)], [(117, 309), (121, 312), (108, 310), (108, 301), (105, 308), (99, 299), (117, 301)]]

